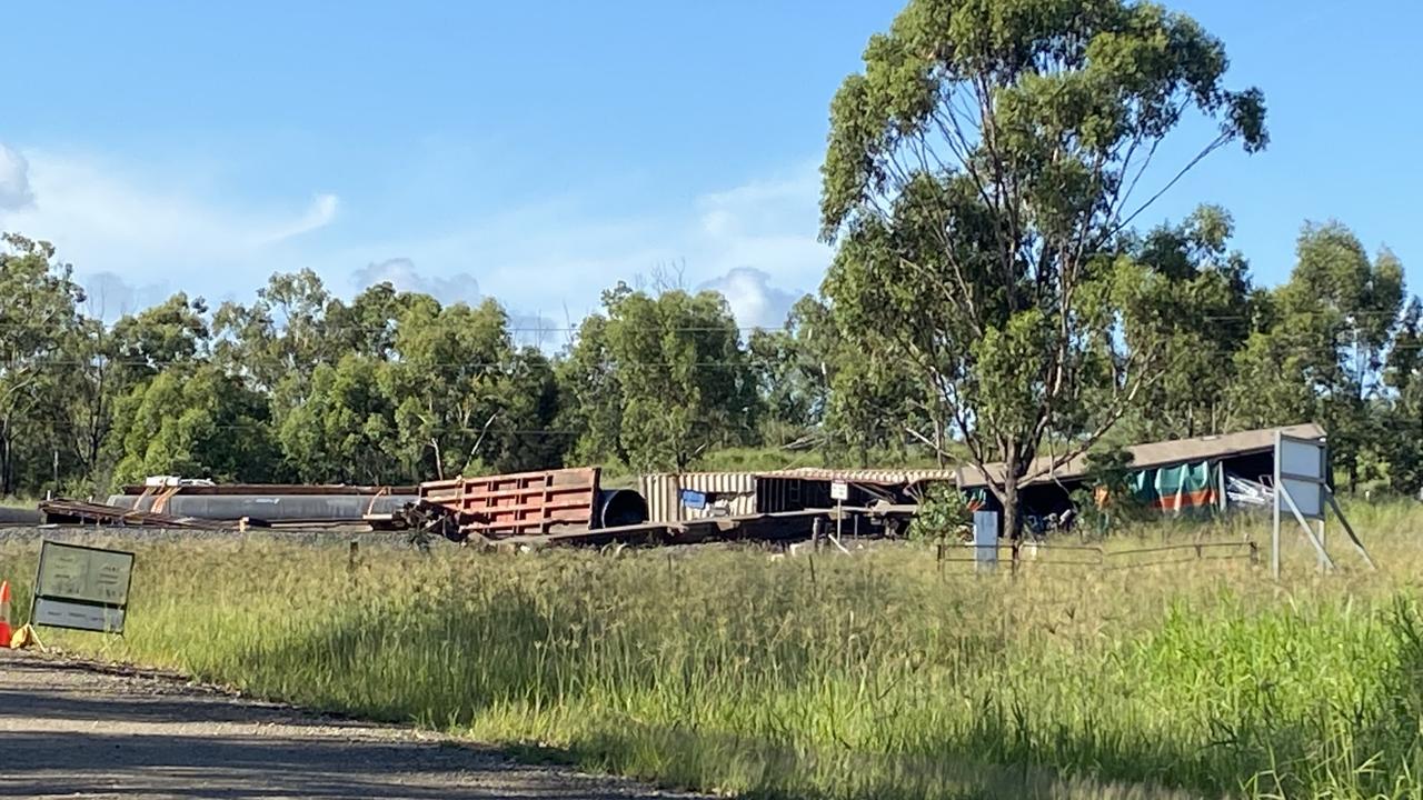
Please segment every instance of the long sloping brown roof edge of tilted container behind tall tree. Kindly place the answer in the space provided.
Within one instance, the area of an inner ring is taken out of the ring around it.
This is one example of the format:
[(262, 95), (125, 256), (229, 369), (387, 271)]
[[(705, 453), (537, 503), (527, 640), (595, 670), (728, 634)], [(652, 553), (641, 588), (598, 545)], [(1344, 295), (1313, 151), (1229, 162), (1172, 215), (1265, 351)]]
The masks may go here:
[[(1275, 431), (1281, 431), (1286, 436), (1295, 436), (1299, 438), (1323, 438), (1325, 428), (1315, 423), (1305, 423), (1301, 426), (1285, 426), (1278, 428), (1259, 428), (1247, 430), (1239, 433), (1225, 433), (1218, 436), (1198, 436), (1195, 438), (1177, 438), (1171, 441), (1153, 441), (1148, 444), (1136, 444), (1127, 448), (1131, 453), (1131, 465), (1137, 468), (1148, 467), (1167, 467), (1171, 464), (1185, 464), (1191, 461), (1204, 461), (1208, 458), (1225, 458), (1229, 456), (1247, 456), (1251, 453), (1266, 453), (1275, 447)], [(1044, 484), (1052, 481), (1072, 481), (1087, 475), (1087, 456), (1081, 454), (1076, 458), (1067, 461), (1066, 464), (1059, 464), (1056, 470), (1049, 470), (1052, 465), (1052, 456), (1040, 456), (1033, 460), (1033, 465), (1029, 467), (1027, 475), (1037, 474), (1037, 478), (1029, 481), (1029, 484)], [(989, 464), (988, 473), (995, 478), (1002, 478), (1003, 464)], [(983, 474), (979, 473), (978, 467), (965, 465), (962, 468), (962, 485), (963, 488), (976, 488), (988, 485)]]

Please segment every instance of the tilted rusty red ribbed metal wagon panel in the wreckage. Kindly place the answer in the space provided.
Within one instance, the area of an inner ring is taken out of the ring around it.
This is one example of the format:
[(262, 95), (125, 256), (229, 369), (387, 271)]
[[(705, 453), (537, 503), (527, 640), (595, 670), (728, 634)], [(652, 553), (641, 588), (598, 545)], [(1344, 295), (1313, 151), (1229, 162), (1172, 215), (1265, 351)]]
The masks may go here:
[(488, 538), (591, 528), (598, 467), (458, 477), (420, 484), (420, 498), (458, 515), (460, 530)]

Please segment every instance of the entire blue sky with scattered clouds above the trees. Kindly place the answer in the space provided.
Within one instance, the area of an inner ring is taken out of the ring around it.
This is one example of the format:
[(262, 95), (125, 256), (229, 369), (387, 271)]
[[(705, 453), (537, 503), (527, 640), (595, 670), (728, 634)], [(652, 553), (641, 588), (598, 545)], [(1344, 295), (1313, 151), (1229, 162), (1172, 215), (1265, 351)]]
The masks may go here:
[[(310, 266), (343, 295), (391, 279), (564, 326), (662, 270), (776, 323), (830, 258), (830, 97), (901, 6), (14, 3), (0, 229), (54, 241), (110, 315)], [(1423, 288), (1423, 6), (1173, 7), (1265, 91), (1272, 144), (1215, 155), (1144, 221), (1221, 204), (1275, 283), (1301, 223), (1338, 218)]]

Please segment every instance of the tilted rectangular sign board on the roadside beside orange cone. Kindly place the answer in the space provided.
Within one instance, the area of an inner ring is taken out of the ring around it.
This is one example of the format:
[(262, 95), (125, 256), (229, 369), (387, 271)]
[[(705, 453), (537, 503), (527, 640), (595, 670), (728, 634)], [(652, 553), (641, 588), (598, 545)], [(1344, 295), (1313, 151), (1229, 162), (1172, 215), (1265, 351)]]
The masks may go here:
[(134, 554), (44, 540), (30, 623), (122, 633)]

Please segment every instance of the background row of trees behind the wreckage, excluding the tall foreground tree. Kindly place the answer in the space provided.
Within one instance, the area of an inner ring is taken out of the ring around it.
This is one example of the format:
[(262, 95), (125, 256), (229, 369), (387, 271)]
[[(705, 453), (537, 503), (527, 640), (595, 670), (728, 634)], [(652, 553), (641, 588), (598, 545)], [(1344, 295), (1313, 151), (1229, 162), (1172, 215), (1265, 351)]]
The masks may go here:
[[(1417, 491), (1423, 305), (1405, 303), (1399, 260), (1370, 258), (1343, 225), (1306, 225), (1289, 280), (1268, 289), (1229, 236), (1229, 215), (1202, 208), (1124, 243), (1163, 280), (1174, 335), (1170, 367), (1113, 438), (1316, 420), (1349, 484)], [(969, 458), (924, 373), (847, 327), (894, 313), (874, 303), (837, 313), (850, 309), (807, 295), (783, 327), (743, 332), (714, 292), (619, 283), (551, 356), (517, 346), (494, 300), (443, 305), (390, 283), (343, 300), (306, 270), (273, 275), (250, 303), (176, 293), (105, 323), (50, 245), (4, 242), (6, 494), (155, 474), (406, 484), (589, 463), (686, 470), (727, 447), (838, 465)]]

